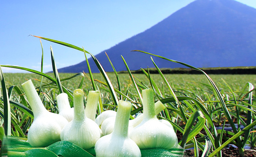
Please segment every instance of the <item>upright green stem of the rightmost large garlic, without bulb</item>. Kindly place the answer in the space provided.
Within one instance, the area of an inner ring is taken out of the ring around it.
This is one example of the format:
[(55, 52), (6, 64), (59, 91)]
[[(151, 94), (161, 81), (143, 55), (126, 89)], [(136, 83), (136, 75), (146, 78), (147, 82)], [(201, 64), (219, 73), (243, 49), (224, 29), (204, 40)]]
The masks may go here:
[(143, 104), (143, 115), (144, 119), (156, 118), (156, 109), (154, 105), (154, 93), (152, 89), (142, 90), (142, 95), (144, 96), (142, 100)]

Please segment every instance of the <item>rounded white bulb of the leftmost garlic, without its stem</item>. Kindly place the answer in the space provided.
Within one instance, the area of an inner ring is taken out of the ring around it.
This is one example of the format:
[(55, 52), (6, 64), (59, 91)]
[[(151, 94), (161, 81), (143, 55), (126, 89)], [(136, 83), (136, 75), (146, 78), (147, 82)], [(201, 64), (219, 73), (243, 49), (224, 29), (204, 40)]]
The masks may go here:
[(28, 142), (33, 147), (46, 147), (60, 141), (61, 130), (67, 123), (63, 116), (56, 113), (39, 115), (28, 130)]

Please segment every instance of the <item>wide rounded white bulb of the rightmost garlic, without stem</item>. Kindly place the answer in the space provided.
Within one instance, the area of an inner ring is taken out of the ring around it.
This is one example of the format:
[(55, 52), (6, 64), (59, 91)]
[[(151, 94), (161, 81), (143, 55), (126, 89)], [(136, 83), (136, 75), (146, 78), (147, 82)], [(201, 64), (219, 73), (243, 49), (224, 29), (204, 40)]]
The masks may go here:
[(173, 148), (178, 138), (173, 129), (158, 119), (143, 120), (129, 134), (140, 149)]

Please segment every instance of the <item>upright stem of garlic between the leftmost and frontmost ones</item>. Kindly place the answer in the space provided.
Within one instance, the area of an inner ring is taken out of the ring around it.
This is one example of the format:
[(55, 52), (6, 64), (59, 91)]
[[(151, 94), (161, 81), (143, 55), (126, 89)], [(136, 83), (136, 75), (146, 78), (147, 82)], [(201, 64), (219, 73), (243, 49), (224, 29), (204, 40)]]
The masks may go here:
[(74, 120), (85, 119), (85, 110), (83, 105), (83, 90), (74, 90)]

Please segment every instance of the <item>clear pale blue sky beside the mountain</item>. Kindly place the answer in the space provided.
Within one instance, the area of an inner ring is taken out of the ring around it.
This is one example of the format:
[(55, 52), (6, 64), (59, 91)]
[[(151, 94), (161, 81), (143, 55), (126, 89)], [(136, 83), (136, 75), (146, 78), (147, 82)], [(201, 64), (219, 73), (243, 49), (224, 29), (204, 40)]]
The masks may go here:
[[(194, 0), (1, 0), (0, 65), (40, 71), (37, 35), (60, 40), (94, 55), (154, 26)], [(256, 8), (256, 0), (237, 0)], [(51, 71), (50, 45), (57, 68), (85, 60), (80, 51), (42, 40), (44, 72)], [(89, 57), (89, 56), (88, 56)], [(7, 72), (26, 72), (4, 68)]]

